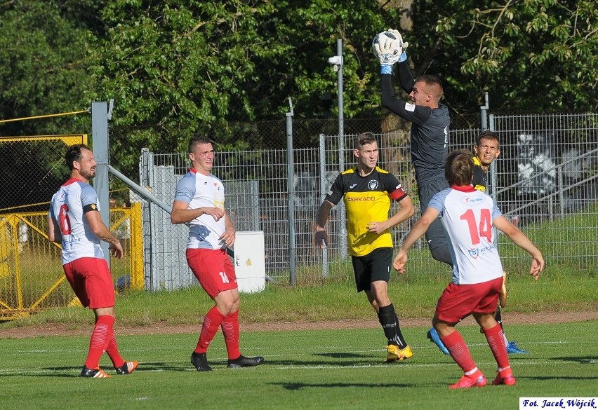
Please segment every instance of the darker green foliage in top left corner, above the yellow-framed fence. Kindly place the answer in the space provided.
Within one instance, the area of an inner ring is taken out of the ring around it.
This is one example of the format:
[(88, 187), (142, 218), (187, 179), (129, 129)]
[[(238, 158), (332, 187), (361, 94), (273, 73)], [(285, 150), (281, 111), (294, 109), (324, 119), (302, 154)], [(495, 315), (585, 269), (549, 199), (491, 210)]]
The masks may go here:
[[(84, 93), (86, 35), (98, 32), (98, 1), (4, 1), (0, 3), (0, 116), (3, 119), (60, 114), (90, 106)], [(81, 133), (88, 116), (0, 124), (2, 135)]]

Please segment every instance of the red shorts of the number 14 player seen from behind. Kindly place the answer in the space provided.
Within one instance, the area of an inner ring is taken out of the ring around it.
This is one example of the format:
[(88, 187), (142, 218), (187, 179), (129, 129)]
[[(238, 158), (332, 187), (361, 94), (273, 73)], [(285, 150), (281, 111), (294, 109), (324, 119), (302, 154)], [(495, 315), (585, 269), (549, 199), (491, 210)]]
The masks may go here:
[(472, 313), (494, 313), (503, 278), (473, 285), (446, 285), (436, 305), (436, 317), (456, 323)]

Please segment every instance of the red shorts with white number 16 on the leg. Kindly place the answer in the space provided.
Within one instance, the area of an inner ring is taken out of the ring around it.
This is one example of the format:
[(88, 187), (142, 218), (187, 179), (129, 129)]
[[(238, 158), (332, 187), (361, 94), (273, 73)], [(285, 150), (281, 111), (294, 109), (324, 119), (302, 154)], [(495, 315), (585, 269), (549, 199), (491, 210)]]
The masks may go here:
[(238, 287), (237, 275), (226, 250), (187, 249), (187, 264), (212, 299), (222, 291)]

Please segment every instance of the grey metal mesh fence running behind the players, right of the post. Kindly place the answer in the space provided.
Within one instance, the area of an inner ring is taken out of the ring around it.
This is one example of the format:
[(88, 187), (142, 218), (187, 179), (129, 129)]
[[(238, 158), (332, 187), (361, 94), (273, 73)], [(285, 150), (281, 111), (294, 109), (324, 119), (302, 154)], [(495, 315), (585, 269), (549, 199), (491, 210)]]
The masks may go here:
[[(548, 263), (575, 268), (590, 266), (598, 252), (592, 240), (598, 229), (594, 216), (597, 153), (588, 147), (595, 146), (598, 139), (597, 115), (495, 115), (491, 116), (490, 128), (499, 133), (502, 152), (491, 167), (489, 193), (503, 213), (538, 243)], [(480, 131), (479, 128), (451, 130), (451, 149), (471, 149)], [(344, 168), (354, 165), (352, 139), (356, 135), (345, 133)], [(419, 217), (417, 186), (406, 135), (378, 133), (377, 137), (379, 165), (397, 175), (416, 204), (416, 215), (392, 230), (396, 244)], [(319, 139), (318, 147), (293, 150), (293, 209), (288, 206), (291, 187), (287, 184), (286, 150), (220, 151), (215, 156), (213, 173), (227, 187), (227, 210), (237, 230), (265, 232), (267, 275), (277, 280), (287, 280), (290, 275), (289, 232), (294, 234), (298, 276), (352, 275), (340, 229), (342, 204), (333, 208), (328, 220), (328, 248), (322, 251), (314, 246), (317, 208), (340, 168), (338, 136), (321, 135)], [(186, 155), (152, 153), (151, 158), (152, 162), (143, 163), (142, 169), (171, 167), (178, 177), (187, 172)], [(253, 189), (241, 188), (247, 184)], [(164, 189), (164, 195), (172, 203), (175, 183)], [(289, 212), (293, 212), (293, 226), (289, 226)], [(504, 235), (499, 238), (505, 267), (510, 271), (526, 271), (529, 258), (525, 252)], [(184, 252), (185, 244), (179, 245), (166, 252)], [(411, 269), (427, 273), (449, 271), (430, 257), (424, 240), (416, 245), (409, 264)]]

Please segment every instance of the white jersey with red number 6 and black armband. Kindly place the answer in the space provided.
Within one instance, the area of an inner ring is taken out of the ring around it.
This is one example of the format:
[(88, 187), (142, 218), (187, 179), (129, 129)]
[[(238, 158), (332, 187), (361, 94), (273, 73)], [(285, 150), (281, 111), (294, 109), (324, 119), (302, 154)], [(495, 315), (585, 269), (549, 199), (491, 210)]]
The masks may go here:
[(91, 230), (85, 212), (99, 211), (95, 189), (71, 178), (52, 197), (50, 217), (62, 233), (62, 264), (79, 258), (103, 258), (100, 238)]

